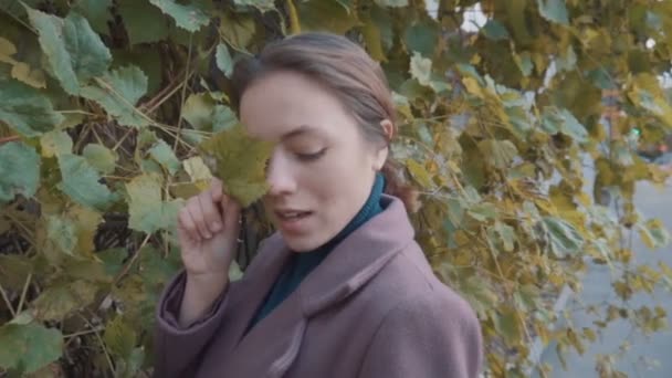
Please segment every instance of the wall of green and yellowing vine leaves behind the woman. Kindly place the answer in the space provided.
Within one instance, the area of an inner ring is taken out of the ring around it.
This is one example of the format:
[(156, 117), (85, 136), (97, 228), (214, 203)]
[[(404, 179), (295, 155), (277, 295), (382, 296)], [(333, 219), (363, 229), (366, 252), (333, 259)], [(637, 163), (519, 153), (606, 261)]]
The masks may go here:
[[(669, 238), (632, 203), (636, 181), (665, 174), (631, 130), (655, 140), (672, 125), (659, 81), (672, 2), (481, 1), (489, 20), (468, 32), (474, 3), (0, 0), (0, 371), (150, 371), (176, 212), (211, 175), (197, 146), (235, 124), (232, 64), (306, 30), (347, 34), (384, 66), (418, 240), (477, 311), (489, 372), (526, 375), (534, 337), (580, 351), (616, 318), (664, 327), (662, 308), (629, 302), (672, 282), (632, 261), (633, 232)], [(243, 269), (271, 231), (258, 206), (245, 219)], [(555, 297), (580, 291), (588, 261), (612, 270), (617, 300), (592, 328), (554, 328)], [(596, 361), (602, 376), (613, 358)]]

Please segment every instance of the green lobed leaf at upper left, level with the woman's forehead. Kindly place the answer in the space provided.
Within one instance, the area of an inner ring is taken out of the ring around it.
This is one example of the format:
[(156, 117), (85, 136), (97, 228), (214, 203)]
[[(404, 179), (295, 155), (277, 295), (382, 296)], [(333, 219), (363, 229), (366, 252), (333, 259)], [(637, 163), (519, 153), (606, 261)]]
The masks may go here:
[(149, 120), (135, 105), (147, 93), (147, 75), (133, 65), (105, 73), (96, 86), (82, 88), (82, 96), (101, 104), (120, 125), (143, 127)]

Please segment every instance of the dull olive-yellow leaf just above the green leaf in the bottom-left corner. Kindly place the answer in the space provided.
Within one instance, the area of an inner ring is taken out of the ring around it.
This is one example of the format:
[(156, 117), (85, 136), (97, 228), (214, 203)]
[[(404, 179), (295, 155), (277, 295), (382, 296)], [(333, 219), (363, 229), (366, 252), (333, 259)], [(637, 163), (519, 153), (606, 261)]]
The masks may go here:
[(73, 312), (92, 304), (96, 290), (95, 285), (85, 281), (50, 286), (32, 303), (34, 316), (41, 321), (63, 321)]

